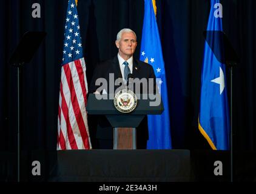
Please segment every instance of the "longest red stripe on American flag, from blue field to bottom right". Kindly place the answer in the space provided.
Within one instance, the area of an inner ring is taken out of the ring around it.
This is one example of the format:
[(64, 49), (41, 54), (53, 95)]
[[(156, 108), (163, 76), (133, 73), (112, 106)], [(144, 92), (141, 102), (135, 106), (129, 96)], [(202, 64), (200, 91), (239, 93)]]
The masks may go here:
[(72, 73), (71, 73), (69, 65), (64, 65), (64, 72), (66, 74), (67, 84), (69, 85), (70, 98), (72, 101), (73, 111), (75, 113), (76, 122), (78, 124), (79, 132), (80, 132), (81, 138), (83, 140), (84, 147), (86, 149), (90, 149), (89, 139), (88, 139), (88, 135), (86, 132), (86, 126), (84, 125), (84, 119), (81, 114), (78, 99), (76, 97), (75, 87), (74, 87), (73, 80), (72, 80)]

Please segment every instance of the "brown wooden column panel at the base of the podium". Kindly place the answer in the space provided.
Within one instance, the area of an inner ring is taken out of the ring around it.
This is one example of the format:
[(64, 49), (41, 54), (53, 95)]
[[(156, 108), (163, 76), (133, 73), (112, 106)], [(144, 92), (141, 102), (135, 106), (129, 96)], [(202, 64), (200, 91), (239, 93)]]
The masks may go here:
[(135, 150), (136, 129), (132, 127), (114, 127), (113, 149)]

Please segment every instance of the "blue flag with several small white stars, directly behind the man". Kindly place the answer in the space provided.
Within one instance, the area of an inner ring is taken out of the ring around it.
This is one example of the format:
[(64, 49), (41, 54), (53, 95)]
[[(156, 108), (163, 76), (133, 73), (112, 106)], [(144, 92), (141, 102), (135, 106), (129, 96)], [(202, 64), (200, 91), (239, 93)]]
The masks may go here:
[(164, 105), (164, 112), (161, 115), (147, 116), (149, 125), (147, 149), (171, 149), (166, 74), (152, 0), (144, 1), (144, 24), (141, 38), (140, 60), (153, 66)]

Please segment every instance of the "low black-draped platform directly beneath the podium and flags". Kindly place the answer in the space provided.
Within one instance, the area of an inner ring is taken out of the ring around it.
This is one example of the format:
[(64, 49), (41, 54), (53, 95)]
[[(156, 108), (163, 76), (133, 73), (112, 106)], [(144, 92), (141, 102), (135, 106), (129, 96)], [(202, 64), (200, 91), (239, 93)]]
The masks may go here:
[(189, 150), (58, 153), (58, 181), (190, 181)]

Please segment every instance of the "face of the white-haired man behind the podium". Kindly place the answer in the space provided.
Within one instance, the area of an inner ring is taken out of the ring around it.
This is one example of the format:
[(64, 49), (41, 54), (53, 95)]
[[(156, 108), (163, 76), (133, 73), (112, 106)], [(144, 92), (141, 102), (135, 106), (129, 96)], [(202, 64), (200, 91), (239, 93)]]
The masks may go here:
[(132, 32), (124, 32), (120, 41), (116, 41), (116, 47), (119, 49), (119, 54), (124, 59), (129, 59), (135, 52), (137, 41)]

